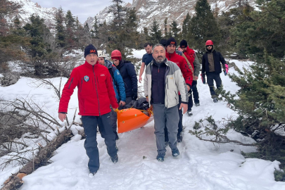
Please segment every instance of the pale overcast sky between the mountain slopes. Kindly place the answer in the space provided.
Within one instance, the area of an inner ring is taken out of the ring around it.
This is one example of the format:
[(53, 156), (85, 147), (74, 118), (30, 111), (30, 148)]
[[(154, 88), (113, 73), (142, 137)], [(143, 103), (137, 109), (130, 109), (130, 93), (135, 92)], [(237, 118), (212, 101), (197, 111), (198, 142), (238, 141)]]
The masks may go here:
[[(72, 15), (78, 16), (80, 23), (84, 23), (89, 16), (94, 17), (99, 11), (111, 4), (111, 0), (94, 0), (94, 1), (80, 1), (80, 0), (32, 0), (44, 8), (63, 8), (63, 11), (70, 10)], [(123, 0), (132, 4), (132, 0)]]

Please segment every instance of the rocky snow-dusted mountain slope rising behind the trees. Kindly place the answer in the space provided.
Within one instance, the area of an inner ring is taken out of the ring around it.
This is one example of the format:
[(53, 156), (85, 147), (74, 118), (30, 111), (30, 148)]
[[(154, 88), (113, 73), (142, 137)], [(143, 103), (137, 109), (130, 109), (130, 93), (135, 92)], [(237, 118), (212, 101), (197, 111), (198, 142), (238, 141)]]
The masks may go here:
[[(137, 10), (139, 18), (139, 31), (144, 27), (151, 27), (153, 20), (156, 19), (160, 28), (163, 29), (164, 20), (167, 18), (167, 25), (170, 25), (173, 20), (176, 20), (181, 26), (186, 14), (191, 16), (195, 13), (195, 6), (197, 0), (133, 0), (132, 4), (125, 4), (128, 7), (134, 7)], [(243, 2), (244, 0), (241, 0)], [(230, 8), (238, 6), (237, 0), (208, 0), (212, 10), (217, 13), (228, 11)], [(255, 5), (255, 0), (248, 0), (248, 4)], [(110, 22), (112, 14), (108, 13), (108, 7), (104, 8), (99, 14), (96, 15), (99, 23)], [(89, 26), (94, 25), (94, 18), (88, 18), (86, 21)]]

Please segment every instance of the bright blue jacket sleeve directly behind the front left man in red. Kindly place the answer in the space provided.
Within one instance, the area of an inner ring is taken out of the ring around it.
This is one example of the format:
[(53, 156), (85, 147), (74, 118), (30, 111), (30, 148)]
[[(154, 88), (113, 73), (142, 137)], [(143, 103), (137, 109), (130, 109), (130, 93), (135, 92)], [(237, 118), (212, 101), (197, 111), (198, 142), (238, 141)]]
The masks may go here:
[(117, 101), (126, 101), (125, 83), (122, 80), (119, 70), (108, 60), (105, 60), (105, 66), (108, 68), (110, 75), (113, 78), (113, 87), (115, 89)]

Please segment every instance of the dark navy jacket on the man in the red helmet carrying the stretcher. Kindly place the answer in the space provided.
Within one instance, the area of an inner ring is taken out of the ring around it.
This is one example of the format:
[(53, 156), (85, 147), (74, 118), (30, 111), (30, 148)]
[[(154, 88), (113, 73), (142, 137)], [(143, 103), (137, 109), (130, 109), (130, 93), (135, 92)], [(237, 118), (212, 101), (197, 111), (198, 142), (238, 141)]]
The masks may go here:
[(126, 97), (137, 95), (137, 73), (130, 61), (120, 61), (116, 66), (125, 82)]

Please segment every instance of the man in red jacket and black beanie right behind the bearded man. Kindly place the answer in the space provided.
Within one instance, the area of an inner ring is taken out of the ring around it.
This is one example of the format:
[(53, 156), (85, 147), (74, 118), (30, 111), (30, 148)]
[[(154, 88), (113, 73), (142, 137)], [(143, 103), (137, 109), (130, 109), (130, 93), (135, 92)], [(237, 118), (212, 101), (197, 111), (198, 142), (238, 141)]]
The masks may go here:
[[(191, 68), (189, 68), (186, 59), (182, 56), (179, 56), (176, 53), (176, 40), (173, 37), (170, 37), (170, 39), (167, 39), (166, 42), (166, 58), (168, 61), (172, 61), (174, 63), (176, 63), (178, 65), (178, 67), (180, 68), (182, 75), (184, 77), (184, 80), (186, 82), (186, 86), (188, 91), (191, 88), (191, 84), (193, 81), (193, 72), (191, 70)], [(179, 95), (179, 104), (177, 105), (177, 107), (179, 108), (181, 104), (181, 96)], [(177, 142), (181, 142), (182, 141), (182, 130), (183, 130), (183, 125), (182, 125), (182, 118), (183, 118), (183, 114), (182, 114), (182, 110), (178, 110), (179, 112), (179, 124), (178, 124), (178, 133), (177, 133)], [(167, 129), (165, 127), (165, 144), (167, 144), (168, 141), (168, 136), (167, 136)]]

